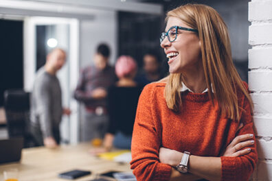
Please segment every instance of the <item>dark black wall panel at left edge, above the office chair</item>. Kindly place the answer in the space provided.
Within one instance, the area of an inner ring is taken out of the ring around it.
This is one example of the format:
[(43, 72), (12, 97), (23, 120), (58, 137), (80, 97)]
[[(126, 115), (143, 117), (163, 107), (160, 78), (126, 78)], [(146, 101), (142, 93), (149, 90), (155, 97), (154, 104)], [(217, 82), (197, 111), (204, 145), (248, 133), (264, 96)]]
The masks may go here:
[(0, 20), (0, 106), (10, 88), (23, 88), (23, 21)]

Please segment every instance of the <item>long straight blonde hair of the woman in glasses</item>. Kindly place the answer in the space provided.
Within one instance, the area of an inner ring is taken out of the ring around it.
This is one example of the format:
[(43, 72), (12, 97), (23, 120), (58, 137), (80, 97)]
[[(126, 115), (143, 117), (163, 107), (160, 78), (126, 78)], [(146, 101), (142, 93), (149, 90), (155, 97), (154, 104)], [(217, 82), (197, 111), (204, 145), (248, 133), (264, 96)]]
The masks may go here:
[[(236, 89), (242, 90), (252, 101), (242, 83), (231, 58), (231, 45), (227, 26), (213, 8), (202, 4), (186, 4), (167, 13), (166, 21), (177, 17), (189, 27), (198, 29), (201, 56), (209, 99), (218, 102), (223, 114), (229, 119), (240, 119)], [(165, 98), (168, 108), (179, 112), (181, 108), (181, 73), (171, 73), (166, 80)], [(214, 93), (211, 92), (214, 91)]]

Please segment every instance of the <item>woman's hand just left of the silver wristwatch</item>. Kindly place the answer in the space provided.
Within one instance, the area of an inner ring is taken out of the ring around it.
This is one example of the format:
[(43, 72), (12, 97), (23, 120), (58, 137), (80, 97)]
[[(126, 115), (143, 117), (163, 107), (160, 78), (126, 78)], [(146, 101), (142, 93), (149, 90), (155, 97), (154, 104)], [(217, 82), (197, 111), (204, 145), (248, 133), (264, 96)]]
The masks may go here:
[(177, 166), (181, 161), (183, 153), (177, 152), (174, 149), (161, 147), (159, 149), (159, 161), (173, 167)]

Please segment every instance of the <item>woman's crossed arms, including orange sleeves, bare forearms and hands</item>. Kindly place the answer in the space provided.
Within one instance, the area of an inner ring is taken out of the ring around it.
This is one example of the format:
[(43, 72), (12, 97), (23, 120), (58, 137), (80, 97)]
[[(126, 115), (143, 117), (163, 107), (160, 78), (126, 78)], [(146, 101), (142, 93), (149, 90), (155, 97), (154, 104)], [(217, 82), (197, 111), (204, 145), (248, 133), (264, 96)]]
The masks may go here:
[[(249, 138), (249, 134), (253, 134), (249, 104), (243, 106), (245, 113), (240, 119), (240, 123), (245, 125), (237, 132), (236, 138), (227, 145), (225, 152), (214, 157), (190, 156), (189, 174), (182, 174), (176, 171), (174, 166), (178, 165), (183, 154), (161, 148), (160, 131), (162, 128), (159, 121), (154, 121), (157, 120), (153, 117), (156, 114), (152, 114), (151, 111), (151, 106), (154, 103), (150, 102), (150, 93), (148, 93), (148, 91), (152, 91), (149, 89), (150, 87), (141, 93), (133, 129), (131, 169), (134, 169), (133, 173), (137, 180), (249, 179), (258, 160), (256, 144), (251, 142), (254, 141), (254, 136)], [(247, 138), (243, 138), (244, 134), (247, 134)], [(166, 156), (163, 156), (163, 151)]]

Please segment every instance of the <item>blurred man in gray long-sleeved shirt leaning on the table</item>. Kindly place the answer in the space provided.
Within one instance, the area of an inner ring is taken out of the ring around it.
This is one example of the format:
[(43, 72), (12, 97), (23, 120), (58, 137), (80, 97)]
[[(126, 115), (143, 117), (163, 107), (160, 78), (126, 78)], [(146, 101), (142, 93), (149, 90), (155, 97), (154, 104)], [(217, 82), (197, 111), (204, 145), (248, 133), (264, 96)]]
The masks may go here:
[(38, 70), (31, 100), (30, 130), (38, 145), (56, 147), (60, 143), (59, 125), (63, 114), (71, 111), (62, 106), (60, 82), (56, 73), (65, 64), (66, 53), (54, 49)]

